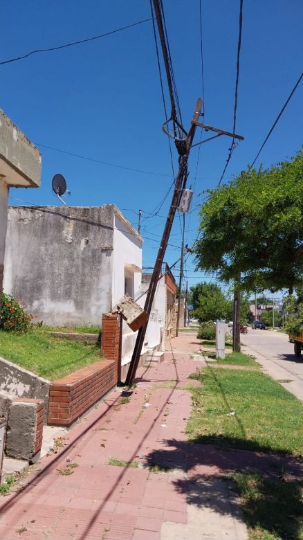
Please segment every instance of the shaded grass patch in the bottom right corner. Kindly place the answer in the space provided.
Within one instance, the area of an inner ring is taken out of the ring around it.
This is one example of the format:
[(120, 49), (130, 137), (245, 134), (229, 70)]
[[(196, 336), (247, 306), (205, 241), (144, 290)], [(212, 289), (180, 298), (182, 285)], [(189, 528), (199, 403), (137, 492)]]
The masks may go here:
[(302, 540), (303, 483), (255, 474), (228, 475), (241, 498), (249, 540)]

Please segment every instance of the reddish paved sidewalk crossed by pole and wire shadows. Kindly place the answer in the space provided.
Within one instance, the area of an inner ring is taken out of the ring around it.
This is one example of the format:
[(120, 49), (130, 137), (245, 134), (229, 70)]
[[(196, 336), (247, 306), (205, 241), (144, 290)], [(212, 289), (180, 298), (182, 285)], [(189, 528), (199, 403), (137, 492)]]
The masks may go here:
[[(0, 498), (0, 538), (220, 540), (223, 526), (226, 539), (246, 539), (239, 505), (221, 476), (247, 466), (273, 474), (293, 467), (298, 474), (297, 464), (186, 442), (185, 386), (199, 384), (188, 375), (202, 363), (167, 354), (163, 363), (140, 368), (129, 402), (113, 391), (69, 431), (66, 447), (43, 458), (22, 492)], [(71, 476), (59, 474), (66, 458), (78, 465)], [(108, 465), (111, 459), (139, 467)]]

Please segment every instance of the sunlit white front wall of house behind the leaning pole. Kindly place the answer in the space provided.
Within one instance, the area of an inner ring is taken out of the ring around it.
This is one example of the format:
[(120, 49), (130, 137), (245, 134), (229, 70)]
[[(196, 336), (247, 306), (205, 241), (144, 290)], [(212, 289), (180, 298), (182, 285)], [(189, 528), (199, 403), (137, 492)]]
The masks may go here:
[[(134, 265), (131, 267), (130, 265)], [(141, 273), (135, 271), (142, 268), (142, 242), (129, 230), (125, 222), (116, 214), (113, 230), (113, 299), (112, 307), (125, 295), (125, 278), (132, 278), (130, 296), (136, 300), (140, 294)], [(131, 360), (138, 332), (133, 332), (123, 321), (122, 330), (122, 366)]]

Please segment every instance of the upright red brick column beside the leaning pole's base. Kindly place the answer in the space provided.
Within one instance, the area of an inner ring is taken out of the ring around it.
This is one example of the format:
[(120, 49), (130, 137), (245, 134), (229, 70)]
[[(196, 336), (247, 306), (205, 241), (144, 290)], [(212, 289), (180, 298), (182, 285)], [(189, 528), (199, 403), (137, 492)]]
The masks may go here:
[(102, 338), (101, 349), (107, 360), (115, 362), (115, 375), (118, 381), (120, 371), (120, 315), (104, 313), (102, 316)]

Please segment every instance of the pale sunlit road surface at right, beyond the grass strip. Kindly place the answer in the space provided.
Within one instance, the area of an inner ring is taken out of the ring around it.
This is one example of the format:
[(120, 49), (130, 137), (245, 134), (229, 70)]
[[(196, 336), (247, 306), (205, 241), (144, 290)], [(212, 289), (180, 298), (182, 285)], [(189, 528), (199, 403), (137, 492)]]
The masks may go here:
[(295, 357), (286, 334), (249, 328), (246, 336), (241, 334), (241, 343), (246, 345), (242, 352), (255, 356), (273, 379), (303, 401), (303, 351)]

